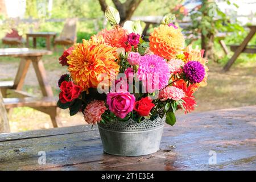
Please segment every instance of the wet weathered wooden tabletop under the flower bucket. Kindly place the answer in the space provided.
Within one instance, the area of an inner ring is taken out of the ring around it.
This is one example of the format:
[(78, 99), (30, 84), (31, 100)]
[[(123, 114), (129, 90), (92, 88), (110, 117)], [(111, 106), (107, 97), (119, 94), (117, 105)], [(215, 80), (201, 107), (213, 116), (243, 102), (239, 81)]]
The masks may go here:
[[(256, 106), (247, 106), (178, 115), (161, 150), (147, 156), (104, 154), (97, 127), (86, 125), (1, 134), (0, 169), (255, 170), (255, 131)], [(40, 151), (46, 164), (38, 163)]]

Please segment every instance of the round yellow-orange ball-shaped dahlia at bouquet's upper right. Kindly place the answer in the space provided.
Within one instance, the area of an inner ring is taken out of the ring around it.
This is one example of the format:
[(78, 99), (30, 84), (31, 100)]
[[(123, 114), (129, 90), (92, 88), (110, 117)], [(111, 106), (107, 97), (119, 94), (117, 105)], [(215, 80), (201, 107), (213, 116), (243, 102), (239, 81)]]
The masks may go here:
[(184, 48), (185, 44), (184, 36), (179, 29), (163, 24), (154, 28), (154, 32), (151, 33), (149, 40), (150, 50), (155, 55), (168, 60), (174, 59), (176, 54)]

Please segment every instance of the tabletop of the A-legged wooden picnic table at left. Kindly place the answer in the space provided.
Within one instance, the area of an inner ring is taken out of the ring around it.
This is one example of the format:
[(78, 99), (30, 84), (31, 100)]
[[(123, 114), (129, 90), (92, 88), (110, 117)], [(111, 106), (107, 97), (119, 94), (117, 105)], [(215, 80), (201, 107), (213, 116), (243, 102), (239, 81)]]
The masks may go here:
[(13, 56), (13, 57), (26, 57), (26, 56), (43, 56), (51, 55), (51, 51), (43, 49), (31, 48), (0, 48), (0, 57)]

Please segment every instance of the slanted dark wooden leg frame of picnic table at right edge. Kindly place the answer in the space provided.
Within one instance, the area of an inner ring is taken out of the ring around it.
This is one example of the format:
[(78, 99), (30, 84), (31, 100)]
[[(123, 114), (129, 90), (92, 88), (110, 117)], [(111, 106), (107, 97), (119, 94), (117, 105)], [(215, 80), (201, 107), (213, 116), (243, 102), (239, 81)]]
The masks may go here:
[(233, 46), (233, 51), (234, 51), (234, 55), (230, 58), (230, 60), (228, 61), (228, 63), (226, 63), (225, 67), (223, 68), (224, 71), (228, 71), (230, 69), (230, 67), (232, 66), (232, 64), (236, 61), (237, 57), (242, 53), (242, 52), (246, 52), (246, 53), (255, 53), (256, 49), (255, 48), (246, 48), (247, 44), (250, 42), (250, 40), (253, 38), (253, 36), (256, 33), (256, 25), (254, 26), (247, 26), (250, 28), (250, 32), (249, 34), (246, 36), (246, 38), (243, 40), (243, 42), (240, 44), (240, 46)]

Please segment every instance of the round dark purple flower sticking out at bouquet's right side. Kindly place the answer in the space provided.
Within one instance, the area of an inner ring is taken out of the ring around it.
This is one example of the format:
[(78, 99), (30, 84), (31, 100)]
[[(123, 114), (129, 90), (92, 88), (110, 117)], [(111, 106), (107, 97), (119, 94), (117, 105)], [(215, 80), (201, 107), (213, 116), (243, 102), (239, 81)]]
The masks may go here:
[(193, 84), (201, 82), (205, 76), (204, 66), (199, 61), (188, 61), (184, 65), (183, 71), (187, 79)]

